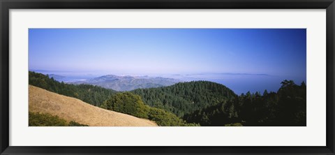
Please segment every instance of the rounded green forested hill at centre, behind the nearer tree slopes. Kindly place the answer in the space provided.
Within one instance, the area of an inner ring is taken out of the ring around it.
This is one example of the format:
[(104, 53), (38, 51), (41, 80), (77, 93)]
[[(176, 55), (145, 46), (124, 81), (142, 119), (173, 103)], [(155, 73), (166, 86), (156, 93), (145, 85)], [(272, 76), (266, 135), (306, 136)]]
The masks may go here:
[(225, 103), (237, 96), (234, 91), (209, 81), (179, 82), (168, 87), (135, 89), (144, 103), (173, 112), (179, 117), (218, 103)]

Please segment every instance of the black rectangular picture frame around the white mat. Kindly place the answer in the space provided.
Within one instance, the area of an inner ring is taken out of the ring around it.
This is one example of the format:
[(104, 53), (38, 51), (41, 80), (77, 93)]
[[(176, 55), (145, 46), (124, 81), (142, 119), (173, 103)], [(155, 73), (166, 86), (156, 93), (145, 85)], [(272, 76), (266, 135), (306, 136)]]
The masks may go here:
[[(335, 154), (334, 152), (334, 0), (0, 0), (1, 154)], [(225, 8), (327, 10), (327, 146), (325, 147), (12, 147), (9, 146), (10, 9)]]

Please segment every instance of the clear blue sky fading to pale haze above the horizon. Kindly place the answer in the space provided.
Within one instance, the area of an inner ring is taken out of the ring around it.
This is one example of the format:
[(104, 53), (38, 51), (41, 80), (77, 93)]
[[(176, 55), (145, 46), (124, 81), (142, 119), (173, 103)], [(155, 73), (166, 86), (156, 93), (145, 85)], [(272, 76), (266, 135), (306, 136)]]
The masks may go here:
[(29, 70), (306, 81), (306, 29), (29, 29)]

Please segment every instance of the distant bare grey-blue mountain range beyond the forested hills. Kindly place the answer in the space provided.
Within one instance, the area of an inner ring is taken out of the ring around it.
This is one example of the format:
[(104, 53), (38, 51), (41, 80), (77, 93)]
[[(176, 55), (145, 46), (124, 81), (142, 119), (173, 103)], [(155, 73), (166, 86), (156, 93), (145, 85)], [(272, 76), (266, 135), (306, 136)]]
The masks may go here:
[(104, 75), (89, 80), (70, 82), (70, 83), (92, 84), (107, 89), (113, 89), (116, 91), (131, 91), (134, 89), (170, 86), (178, 82), (181, 81), (165, 77)]

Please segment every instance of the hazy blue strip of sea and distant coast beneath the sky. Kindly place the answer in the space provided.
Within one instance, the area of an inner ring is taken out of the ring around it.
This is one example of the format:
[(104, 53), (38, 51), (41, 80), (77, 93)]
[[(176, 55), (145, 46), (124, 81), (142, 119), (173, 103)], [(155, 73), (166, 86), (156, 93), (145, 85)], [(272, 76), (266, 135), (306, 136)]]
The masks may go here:
[[(101, 77), (104, 75), (117, 75), (113, 73), (74, 73), (70, 71), (40, 71), (40, 70), (31, 70), (37, 73), (43, 74), (54, 74), (54, 75), (63, 75), (65, 78), (64, 82), (77, 82), (82, 80), (89, 80), (95, 77)], [(127, 76), (119, 75), (119, 76)], [(130, 76), (145, 76), (145, 75), (130, 75)], [(190, 82), (198, 80), (206, 80), (211, 82), (217, 82), (225, 85), (226, 87), (232, 89), (236, 94), (246, 94), (250, 91), (251, 93), (263, 92), (265, 89), (267, 91), (278, 91), (281, 87), (281, 82), (283, 80), (292, 80), (281, 76), (274, 75), (264, 75), (264, 74), (243, 74), (243, 73), (195, 73), (195, 74), (156, 74), (156, 75), (147, 75), (149, 77), (165, 77), (173, 78), (176, 80), (181, 80), (181, 82)], [(296, 84), (301, 84), (301, 82), (306, 80), (294, 80)]]

